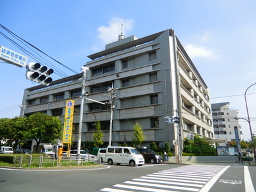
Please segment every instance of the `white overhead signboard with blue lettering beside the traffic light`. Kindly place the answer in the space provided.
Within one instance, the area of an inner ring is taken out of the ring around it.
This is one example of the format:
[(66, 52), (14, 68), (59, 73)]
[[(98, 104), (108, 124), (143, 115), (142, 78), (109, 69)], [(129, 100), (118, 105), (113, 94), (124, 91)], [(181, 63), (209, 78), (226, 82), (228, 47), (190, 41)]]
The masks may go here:
[(19, 54), (11, 49), (4, 47), (3, 45), (0, 46), (0, 60), (4, 60), (8, 63), (16, 65), (17, 67), (26, 67), (28, 57)]

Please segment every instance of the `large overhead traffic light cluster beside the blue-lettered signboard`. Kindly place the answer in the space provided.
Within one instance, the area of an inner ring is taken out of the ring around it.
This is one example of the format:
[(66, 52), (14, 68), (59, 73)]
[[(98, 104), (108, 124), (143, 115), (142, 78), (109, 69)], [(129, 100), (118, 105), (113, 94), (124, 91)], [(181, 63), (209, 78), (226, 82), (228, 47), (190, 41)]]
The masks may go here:
[(53, 73), (52, 68), (41, 66), (40, 63), (29, 63), (27, 66), (26, 78), (35, 81), (36, 83), (44, 84), (48, 86), (52, 82), (50, 77)]

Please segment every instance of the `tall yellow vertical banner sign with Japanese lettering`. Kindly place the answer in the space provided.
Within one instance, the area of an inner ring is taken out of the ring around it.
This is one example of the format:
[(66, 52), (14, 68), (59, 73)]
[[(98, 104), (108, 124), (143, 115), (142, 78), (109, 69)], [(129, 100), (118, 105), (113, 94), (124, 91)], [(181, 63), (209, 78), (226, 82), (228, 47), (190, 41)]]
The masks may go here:
[(63, 128), (63, 143), (71, 143), (75, 100), (67, 100)]

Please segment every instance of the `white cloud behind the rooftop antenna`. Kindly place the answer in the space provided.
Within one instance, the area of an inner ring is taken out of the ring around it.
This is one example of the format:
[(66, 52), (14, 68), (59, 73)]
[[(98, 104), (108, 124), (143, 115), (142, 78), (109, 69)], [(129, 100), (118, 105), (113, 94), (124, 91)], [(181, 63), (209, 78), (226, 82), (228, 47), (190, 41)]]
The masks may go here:
[[(133, 22), (134, 20), (131, 19), (123, 20), (124, 36), (133, 29)], [(113, 17), (108, 22), (108, 26), (100, 26), (97, 31), (99, 35), (97, 35), (97, 42), (92, 47), (93, 51), (102, 50), (104, 45), (118, 40), (118, 35), (121, 33), (121, 18)]]

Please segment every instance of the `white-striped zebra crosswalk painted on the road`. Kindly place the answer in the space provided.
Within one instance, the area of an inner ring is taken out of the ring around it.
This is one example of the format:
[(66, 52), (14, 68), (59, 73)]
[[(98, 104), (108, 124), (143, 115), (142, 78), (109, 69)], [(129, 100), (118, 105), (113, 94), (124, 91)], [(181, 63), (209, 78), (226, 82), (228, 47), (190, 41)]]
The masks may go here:
[[(127, 180), (122, 184), (115, 184), (112, 188), (100, 191), (136, 192), (136, 191), (204, 191), (204, 186), (214, 178), (214, 175), (225, 170), (226, 166), (189, 165), (163, 170), (148, 174), (140, 178)], [(132, 191), (131, 191), (132, 190)], [(206, 190), (208, 191), (208, 190)]]

